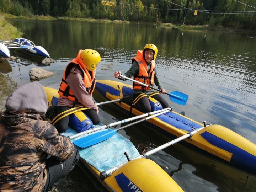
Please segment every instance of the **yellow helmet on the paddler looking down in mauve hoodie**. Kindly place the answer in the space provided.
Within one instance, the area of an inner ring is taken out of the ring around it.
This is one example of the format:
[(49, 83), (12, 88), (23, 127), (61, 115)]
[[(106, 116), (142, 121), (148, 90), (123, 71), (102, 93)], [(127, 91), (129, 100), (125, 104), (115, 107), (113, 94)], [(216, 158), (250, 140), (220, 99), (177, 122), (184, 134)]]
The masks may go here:
[(100, 54), (96, 50), (85, 49), (81, 52), (81, 60), (86, 69), (93, 71), (96, 69), (97, 64), (101, 61)]

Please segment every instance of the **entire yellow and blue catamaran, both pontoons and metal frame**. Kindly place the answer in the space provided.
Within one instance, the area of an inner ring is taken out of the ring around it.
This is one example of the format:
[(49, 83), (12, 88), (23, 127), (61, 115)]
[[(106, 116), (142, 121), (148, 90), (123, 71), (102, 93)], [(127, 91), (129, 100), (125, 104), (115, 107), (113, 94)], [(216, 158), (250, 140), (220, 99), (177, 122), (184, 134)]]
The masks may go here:
[[(49, 107), (57, 105), (58, 91), (49, 87), (44, 89)], [(129, 98), (132, 98), (133, 94), (132, 86), (117, 81), (97, 80), (95, 89), (110, 100), (97, 105), (114, 103), (122, 111), (129, 113), (131, 105)], [(183, 102), (185, 101), (181, 101), (181, 105)], [(69, 128), (63, 135), (70, 137), (80, 151), (81, 161), (109, 191), (182, 191), (164, 170), (155, 162), (146, 159), (147, 156), (177, 142), (256, 175), (254, 143), (223, 126), (206, 126), (172, 111), (171, 108), (162, 109), (159, 102), (152, 98), (150, 103), (153, 111), (149, 114), (132, 108), (131, 114), (134, 117), (96, 127), (80, 111), (83, 107), (76, 107), (63, 113), (69, 114), (70, 119), (73, 119), (69, 124), (73, 128)], [(140, 120), (118, 129), (110, 129), (136, 119)], [(139, 154), (128, 139), (117, 133), (118, 130), (139, 122), (175, 139), (144, 154)]]

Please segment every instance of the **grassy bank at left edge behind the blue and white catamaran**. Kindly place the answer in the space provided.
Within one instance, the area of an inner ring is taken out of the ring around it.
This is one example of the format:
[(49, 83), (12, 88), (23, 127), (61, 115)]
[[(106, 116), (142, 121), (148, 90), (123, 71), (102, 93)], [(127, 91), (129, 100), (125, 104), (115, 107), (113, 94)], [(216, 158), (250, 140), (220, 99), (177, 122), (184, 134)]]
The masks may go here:
[(7, 22), (4, 15), (0, 15), (0, 40), (10, 40), (21, 36), (22, 32)]

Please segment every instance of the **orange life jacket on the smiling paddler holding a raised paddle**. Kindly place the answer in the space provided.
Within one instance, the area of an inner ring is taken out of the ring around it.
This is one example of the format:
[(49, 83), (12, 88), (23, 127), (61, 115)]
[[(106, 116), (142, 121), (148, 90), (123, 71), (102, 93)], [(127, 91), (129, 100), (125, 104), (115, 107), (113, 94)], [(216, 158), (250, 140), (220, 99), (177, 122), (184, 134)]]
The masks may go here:
[[(134, 76), (133, 79), (149, 86), (152, 86), (154, 83), (154, 76), (155, 76), (155, 60), (151, 61), (151, 67), (148, 73), (148, 65), (143, 58), (143, 51), (138, 50), (136, 57), (132, 58), (132, 63), (136, 61), (139, 66), (139, 73), (137, 76)], [(151, 89), (149, 87), (142, 86), (138, 83), (133, 82), (133, 89)]]

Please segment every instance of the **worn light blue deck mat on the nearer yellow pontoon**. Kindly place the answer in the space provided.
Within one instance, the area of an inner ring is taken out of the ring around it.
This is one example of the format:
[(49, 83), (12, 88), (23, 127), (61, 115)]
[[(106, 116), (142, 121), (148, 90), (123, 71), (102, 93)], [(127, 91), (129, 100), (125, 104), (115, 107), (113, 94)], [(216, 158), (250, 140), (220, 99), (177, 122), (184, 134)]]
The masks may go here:
[[(103, 124), (100, 126), (102, 125)], [(97, 132), (101, 131), (106, 131), (106, 129), (102, 129)], [(86, 135), (94, 134), (97, 132), (89, 133)], [(71, 136), (76, 133), (77, 132), (74, 129), (69, 128), (65, 133), (62, 133), (62, 135)], [(72, 139), (71, 141), (73, 142), (74, 140), (82, 137), (85, 137), (85, 135)], [(127, 162), (127, 158), (124, 155), (124, 152), (128, 153), (130, 159), (140, 155), (135, 146), (119, 133), (116, 133), (111, 138), (96, 145), (87, 148), (79, 148), (76, 146), (76, 148), (79, 150), (80, 157), (85, 159), (87, 163), (94, 166), (100, 172)]]

